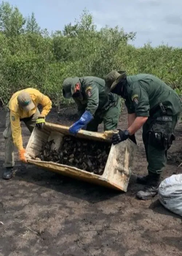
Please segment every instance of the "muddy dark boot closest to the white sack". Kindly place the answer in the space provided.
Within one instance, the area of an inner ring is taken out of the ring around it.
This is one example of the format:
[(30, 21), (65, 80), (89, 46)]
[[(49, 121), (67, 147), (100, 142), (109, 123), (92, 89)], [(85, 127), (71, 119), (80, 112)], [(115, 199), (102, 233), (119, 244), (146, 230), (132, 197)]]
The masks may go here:
[(158, 188), (160, 184), (160, 174), (147, 175), (146, 187), (137, 193), (138, 199), (149, 200), (158, 194)]

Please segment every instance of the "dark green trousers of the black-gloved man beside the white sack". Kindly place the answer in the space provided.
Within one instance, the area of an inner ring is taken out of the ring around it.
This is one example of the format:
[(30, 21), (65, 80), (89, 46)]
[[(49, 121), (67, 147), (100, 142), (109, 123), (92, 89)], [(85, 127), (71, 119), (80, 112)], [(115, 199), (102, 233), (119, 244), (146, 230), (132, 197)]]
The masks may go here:
[(145, 145), (148, 172), (161, 174), (167, 163), (167, 150), (170, 148), (174, 137), (174, 128), (180, 114), (164, 118), (149, 119), (143, 125), (143, 143)]

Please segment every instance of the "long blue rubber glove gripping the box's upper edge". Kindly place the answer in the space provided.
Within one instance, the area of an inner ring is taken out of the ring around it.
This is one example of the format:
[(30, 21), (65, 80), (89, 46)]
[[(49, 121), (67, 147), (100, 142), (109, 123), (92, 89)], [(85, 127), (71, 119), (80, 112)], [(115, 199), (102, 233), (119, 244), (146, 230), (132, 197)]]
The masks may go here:
[(92, 114), (89, 111), (85, 111), (78, 121), (76, 121), (69, 129), (70, 133), (76, 134), (82, 129), (85, 125), (90, 123), (94, 119)]

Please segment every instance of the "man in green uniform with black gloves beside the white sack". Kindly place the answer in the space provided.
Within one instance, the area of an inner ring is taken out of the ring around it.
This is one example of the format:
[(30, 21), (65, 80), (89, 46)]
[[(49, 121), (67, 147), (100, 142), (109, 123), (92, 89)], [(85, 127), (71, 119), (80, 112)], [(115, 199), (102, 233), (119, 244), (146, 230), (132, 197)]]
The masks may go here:
[(174, 128), (182, 111), (182, 101), (173, 89), (153, 75), (126, 76), (125, 71), (111, 71), (104, 79), (106, 92), (124, 98), (128, 111), (128, 127), (113, 135), (113, 144), (133, 136), (143, 126), (148, 175), (137, 177), (138, 183), (146, 184), (137, 197), (150, 199), (158, 193), (167, 150), (175, 140)]

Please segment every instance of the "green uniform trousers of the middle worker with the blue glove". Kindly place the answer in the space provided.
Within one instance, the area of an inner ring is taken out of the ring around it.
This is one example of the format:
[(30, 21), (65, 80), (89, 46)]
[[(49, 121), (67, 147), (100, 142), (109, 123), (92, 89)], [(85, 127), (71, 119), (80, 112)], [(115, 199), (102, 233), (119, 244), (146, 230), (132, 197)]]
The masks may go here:
[(87, 124), (87, 131), (97, 132), (98, 126), (103, 122), (104, 131), (114, 130), (117, 128), (119, 115), (121, 111), (121, 102), (118, 100), (116, 106), (112, 106), (103, 113), (95, 113), (94, 119)]

